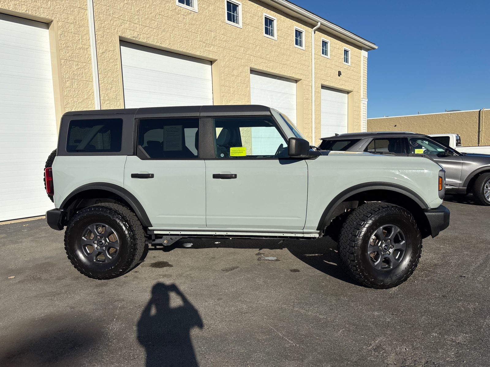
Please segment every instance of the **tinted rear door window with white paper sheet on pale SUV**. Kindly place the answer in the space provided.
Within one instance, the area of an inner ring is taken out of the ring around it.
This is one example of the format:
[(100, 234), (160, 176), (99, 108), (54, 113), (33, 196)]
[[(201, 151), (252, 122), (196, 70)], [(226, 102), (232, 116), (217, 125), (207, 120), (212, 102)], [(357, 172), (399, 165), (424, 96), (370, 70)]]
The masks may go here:
[(198, 158), (198, 118), (141, 119), (138, 145), (150, 158)]

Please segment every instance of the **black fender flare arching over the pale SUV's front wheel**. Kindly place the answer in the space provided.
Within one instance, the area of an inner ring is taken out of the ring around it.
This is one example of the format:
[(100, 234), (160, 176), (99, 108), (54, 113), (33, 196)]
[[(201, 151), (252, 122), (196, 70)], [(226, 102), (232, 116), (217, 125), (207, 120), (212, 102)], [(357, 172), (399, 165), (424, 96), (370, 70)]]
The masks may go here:
[(339, 206), (345, 199), (354, 194), (367, 191), (367, 190), (390, 190), (394, 192), (398, 192), (400, 194), (408, 196), (410, 199), (414, 200), (421, 209), (428, 209), (429, 206), (427, 203), (418, 195), (415, 191), (404, 187), (399, 184), (392, 184), (389, 182), (368, 182), (364, 184), (357, 184), (352, 187), (349, 187), (339, 193), (332, 201), (328, 204), (328, 206), (323, 211), (323, 214), (320, 217), (320, 221), (318, 223), (317, 230), (323, 230), (326, 226), (326, 221), (333, 214), (334, 210)]

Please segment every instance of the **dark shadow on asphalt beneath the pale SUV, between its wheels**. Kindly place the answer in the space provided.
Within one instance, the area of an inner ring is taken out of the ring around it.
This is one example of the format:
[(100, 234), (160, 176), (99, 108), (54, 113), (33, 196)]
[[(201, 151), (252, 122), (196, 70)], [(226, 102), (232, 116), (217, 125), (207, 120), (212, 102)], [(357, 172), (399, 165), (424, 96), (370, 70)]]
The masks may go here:
[[(318, 271), (342, 280), (346, 283), (355, 284), (363, 287), (363, 285), (352, 280), (343, 270), (340, 263), (338, 254), (338, 245), (330, 237), (319, 238), (318, 240), (294, 240), (294, 239), (226, 239), (226, 238), (213, 238), (213, 239), (197, 239), (188, 238), (175, 242), (171, 246), (159, 247), (156, 249), (149, 248), (149, 251), (164, 251), (169, 252), (176, 248), (182, 248), (182, 245), (186, 242), (191, 242), (193, 249), (208, 249), (208, 248), (228, 248), (228, 249), (251, 249), (259, 250), (283, 250), (287, 249), (299, 260), (305, 264), (317, 269)], [(216, 243), (220, 242), (220, 243)], [(261, 253), (263, 253), (262, 251)], [(265, 256), (268, 256), (265, 254)], [(257, 258), (261, 257), (257, 253)], [(280, 260), (280, 259), (279, 259)]]

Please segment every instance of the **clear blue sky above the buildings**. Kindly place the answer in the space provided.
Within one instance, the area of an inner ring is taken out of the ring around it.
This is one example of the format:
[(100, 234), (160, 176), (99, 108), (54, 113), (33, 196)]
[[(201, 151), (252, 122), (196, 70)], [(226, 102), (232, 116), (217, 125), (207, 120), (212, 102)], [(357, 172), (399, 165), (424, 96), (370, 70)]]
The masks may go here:
[(368, 117), (490, 108), (489, 0), (293, 2), (378, 46)]

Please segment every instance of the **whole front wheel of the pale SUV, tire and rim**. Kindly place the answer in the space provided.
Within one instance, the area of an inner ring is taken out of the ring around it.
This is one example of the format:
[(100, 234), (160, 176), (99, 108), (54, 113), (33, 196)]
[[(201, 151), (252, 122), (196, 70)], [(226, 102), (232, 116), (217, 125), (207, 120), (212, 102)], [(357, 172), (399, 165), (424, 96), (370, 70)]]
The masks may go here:
[(355, 209), (343, 224), (339, 239), (343, 267), (371, 288), (403, 283), (417, 268), (421, 252), (422, 238), (412, 214), (380, 202)]

